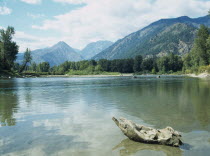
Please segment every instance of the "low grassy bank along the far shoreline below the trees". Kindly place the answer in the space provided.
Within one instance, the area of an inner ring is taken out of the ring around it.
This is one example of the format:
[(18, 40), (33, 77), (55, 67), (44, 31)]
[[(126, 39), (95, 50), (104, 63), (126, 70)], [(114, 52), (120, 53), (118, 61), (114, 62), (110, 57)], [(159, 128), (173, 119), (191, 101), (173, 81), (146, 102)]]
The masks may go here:
[(0, 78), (10, 77), (106, 77), (106, 76), (132, 76), (132, 75), (186, 75), (190, 77), (205, 78), (210, 77), (210, 65), (201, 66), (185, 71), (168, 71), (168, 72), (150, 72), (142, 71), (138, 73), (120, 73), (120, 72), (105, 72), (91, 70), (70, 70), (66, 73), (59, 72), (33, 72), (25, 71), (18, 73), (17, 71), (0, 71)]

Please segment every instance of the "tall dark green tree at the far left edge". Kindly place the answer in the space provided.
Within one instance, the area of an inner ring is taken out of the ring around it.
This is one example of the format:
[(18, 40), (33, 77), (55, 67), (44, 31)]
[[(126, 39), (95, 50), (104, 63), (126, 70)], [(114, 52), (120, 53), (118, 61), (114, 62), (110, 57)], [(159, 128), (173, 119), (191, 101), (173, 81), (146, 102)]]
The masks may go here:
[(14, 34), (13, 27), (8, 26), (6, 30), (0, 29), (0, 66), (5, 70), (11, 70), (18, 53), (19, 47), (12, 41)]

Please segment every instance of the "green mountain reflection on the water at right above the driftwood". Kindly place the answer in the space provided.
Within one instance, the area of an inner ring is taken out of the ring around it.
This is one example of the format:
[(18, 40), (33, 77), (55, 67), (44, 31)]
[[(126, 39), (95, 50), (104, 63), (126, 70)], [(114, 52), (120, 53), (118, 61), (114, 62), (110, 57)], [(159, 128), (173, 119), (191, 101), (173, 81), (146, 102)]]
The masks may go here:
[(109, 94), (118, 109), (156, 128), (170, 125), (182, 132), (210, 131), (209, 81), (146, 81), (113, 88)]

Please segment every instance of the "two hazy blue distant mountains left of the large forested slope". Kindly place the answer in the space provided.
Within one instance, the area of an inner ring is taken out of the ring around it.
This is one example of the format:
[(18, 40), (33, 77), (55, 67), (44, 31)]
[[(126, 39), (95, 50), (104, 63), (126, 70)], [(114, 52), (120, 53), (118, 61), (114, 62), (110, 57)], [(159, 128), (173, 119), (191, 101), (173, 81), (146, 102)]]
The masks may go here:
[[(37, 49), (31, 52), (32, 62), (49, 62), (50, 66), (59, 65), (65, 61), (81, 61), (90, 59), (94, 55), (109, 47), (113, 42), (98, 41), (88, 44), (83, 50), (74, 49), (63, 41), (49, 48)], [(16, 62), (22, 63), (23, 53), (19, 53)]]

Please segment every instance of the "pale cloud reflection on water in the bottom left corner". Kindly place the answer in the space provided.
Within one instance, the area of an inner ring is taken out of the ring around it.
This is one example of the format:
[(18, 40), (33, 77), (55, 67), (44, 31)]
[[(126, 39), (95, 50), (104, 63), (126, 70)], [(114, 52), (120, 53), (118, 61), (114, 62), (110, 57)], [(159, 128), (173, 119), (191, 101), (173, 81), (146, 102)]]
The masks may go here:
[[(45, 127), (33, 127), (23, 123), (19, 128), (5, 128), (4, 143), (0, 146), (0, 155), (39, 155), (48, 156), (66, 149), (87, 148), (87, 142), (77, 141), (78, 136), (59, 135), (56, 130)], [(2, 133), (2, 129), (0, 129)], [(1, 139), (1, 138), (0, 138)]]

